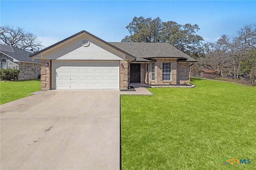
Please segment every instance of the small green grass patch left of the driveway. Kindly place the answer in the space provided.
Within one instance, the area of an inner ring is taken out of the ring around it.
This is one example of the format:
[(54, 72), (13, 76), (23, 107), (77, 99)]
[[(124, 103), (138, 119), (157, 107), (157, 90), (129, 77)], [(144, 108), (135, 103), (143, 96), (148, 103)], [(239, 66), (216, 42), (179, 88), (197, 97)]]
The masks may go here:
[(0, 82), (0, 104), (29, 96), (28, 93), (40, 91), (40, 79)]

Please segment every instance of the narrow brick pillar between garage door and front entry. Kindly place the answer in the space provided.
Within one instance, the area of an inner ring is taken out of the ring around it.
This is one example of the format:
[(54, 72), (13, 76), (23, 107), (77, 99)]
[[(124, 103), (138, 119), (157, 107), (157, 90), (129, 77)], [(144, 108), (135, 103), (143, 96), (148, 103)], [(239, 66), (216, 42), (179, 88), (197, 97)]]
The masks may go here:
[[(121, 63), (124, 67), (121, 67)], [(120, 60), (120, 89), (128, 89), (128, 61)]]

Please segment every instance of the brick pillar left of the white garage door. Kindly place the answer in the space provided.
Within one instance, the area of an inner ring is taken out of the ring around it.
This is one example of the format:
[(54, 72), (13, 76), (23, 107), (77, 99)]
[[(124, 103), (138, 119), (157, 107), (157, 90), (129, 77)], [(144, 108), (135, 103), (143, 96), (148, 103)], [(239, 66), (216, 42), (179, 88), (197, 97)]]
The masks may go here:
[[(49, 63), (48, 67), (45, 66), (45, 63)], [(50, 90), (50, 60), (42, 59), (41, 63), (41, 90)]]

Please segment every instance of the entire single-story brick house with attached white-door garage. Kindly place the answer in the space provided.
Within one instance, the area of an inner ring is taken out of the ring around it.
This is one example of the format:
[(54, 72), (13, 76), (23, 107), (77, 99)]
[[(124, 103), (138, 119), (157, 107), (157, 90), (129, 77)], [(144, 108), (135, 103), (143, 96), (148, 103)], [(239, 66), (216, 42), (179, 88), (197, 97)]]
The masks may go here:
[(190, 83), (190, 64), (196, 62), (168, 43), (108, 43), (86, 31), (30, 57), (42, 60), (42, 90)]

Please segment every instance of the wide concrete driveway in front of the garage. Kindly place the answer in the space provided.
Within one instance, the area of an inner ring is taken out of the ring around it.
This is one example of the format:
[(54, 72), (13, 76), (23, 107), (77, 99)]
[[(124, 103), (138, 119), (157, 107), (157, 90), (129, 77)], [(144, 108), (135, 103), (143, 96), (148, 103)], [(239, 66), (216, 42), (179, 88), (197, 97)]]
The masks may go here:
[(120, 168), (119, 90), (51, 90), (0, 108), (1, 170)]

